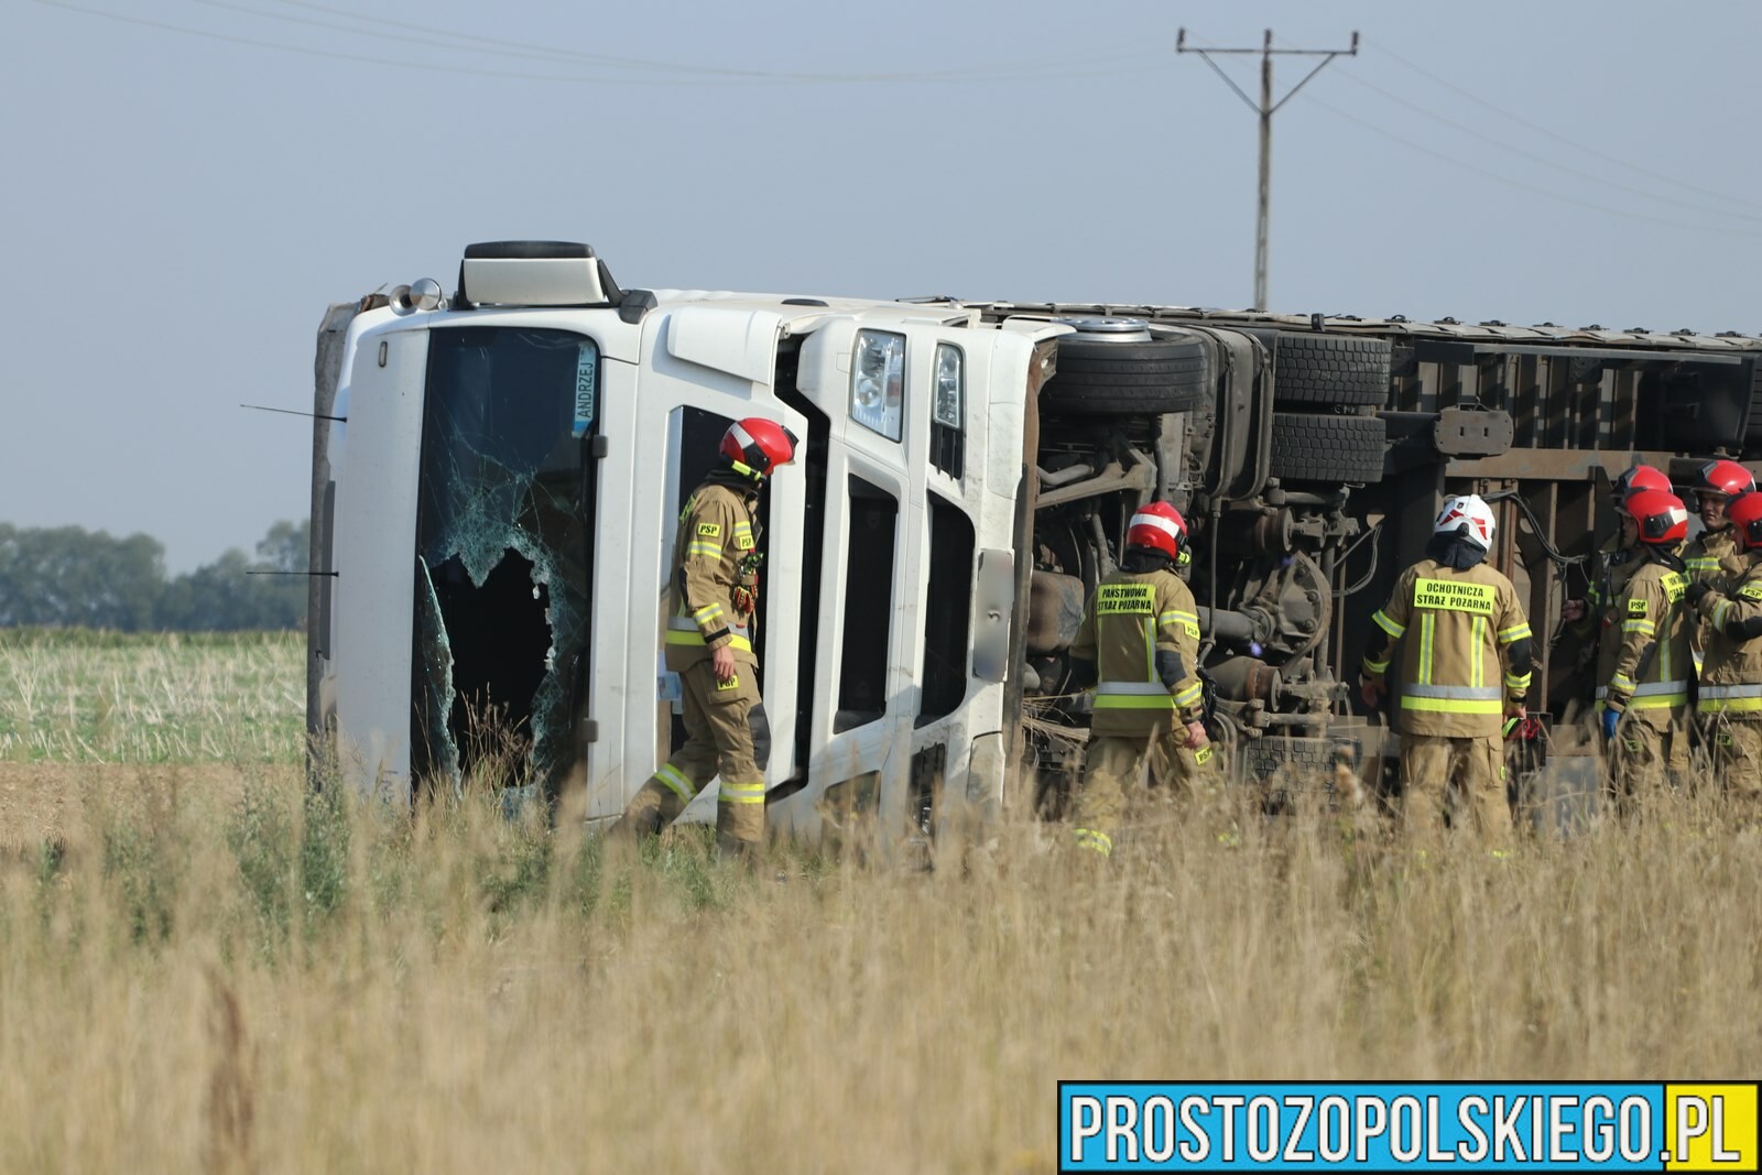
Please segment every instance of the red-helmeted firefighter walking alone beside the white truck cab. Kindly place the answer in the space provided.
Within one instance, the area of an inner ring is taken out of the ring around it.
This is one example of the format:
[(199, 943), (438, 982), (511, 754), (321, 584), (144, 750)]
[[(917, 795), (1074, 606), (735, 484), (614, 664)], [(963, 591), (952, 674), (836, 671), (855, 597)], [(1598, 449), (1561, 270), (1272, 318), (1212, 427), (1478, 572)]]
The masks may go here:
[(765, 831), (770, 724), (752, 654), (759, 585), (754, 507), (765, 479), (795, 460), (795, 433), (775, 421), (737, 421), (722, 435), (721, 463), (678, 516), (666, 666), (678, 673), (684, 694), (685, 745), (624, 809), (624, 833), (661, 831), (712, 775), (722, 780), (719, 853), (745, 854)]

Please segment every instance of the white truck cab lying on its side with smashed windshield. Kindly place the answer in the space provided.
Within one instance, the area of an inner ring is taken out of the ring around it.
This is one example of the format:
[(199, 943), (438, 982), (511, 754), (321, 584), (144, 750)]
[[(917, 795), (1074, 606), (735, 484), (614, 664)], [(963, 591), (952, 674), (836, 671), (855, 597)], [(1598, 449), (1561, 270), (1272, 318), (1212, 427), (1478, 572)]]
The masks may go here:
[[(761, 497), (770, 819), (1001, 800), (1038, 345), (953, 303), (620, 291), (585, 245), (333, 308), (308, 722), (356, 787), (474, 770), (608, 821), (668, 757), (675, 520), (738, 418), (802, 437)], [(511, 772), (509, 772), (511, 768)], [(714, 787), (692, 816), (714, 812)]]

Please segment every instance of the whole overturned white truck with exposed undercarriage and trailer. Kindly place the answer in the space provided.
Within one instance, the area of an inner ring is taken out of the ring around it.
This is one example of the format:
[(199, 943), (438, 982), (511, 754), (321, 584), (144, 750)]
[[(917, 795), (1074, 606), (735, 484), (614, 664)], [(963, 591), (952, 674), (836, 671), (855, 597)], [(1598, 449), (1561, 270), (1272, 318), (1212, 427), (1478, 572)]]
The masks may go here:
[[(1327, 791), (1311, 768), (1380, 768), (1348, 684), (1440, 497), (1494, 500), (1551, 632), (1612, 474), (1762, 440), (1758, 359), (1688, 331), (620, 289), (585, 245), (470, 245), (451, 296), (319, 331), (308, 729), (363, 789), (513, 745), (525, 787), (615, 817), (680, 736), (673, 520), (761, 414), (803, 439), (761, 504), (775, 828), (1055, 810), (1087, 721), (1066, 648), (1151, 499), (1191, 525), (1235, 777)], [(1582, 671), (1542, 650), (1549, 710)]]

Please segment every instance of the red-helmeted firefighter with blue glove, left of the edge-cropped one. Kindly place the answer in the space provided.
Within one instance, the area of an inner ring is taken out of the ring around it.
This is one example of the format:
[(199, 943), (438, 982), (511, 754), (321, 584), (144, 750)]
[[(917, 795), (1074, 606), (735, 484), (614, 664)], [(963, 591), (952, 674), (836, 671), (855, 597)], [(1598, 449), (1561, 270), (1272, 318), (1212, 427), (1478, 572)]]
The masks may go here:
[(1640, 558), (1616, 602), (1621, 639), (1603, 684), (1598, 712), (1610, 757), (1616, 812), (1633, 810), (1639, 787), (1669, 773), (1672, 786), (1688, 775), (1688, 610), (1683, 543), (1688, 509), (1663, 490), (1628, 499), (1628, 518)]

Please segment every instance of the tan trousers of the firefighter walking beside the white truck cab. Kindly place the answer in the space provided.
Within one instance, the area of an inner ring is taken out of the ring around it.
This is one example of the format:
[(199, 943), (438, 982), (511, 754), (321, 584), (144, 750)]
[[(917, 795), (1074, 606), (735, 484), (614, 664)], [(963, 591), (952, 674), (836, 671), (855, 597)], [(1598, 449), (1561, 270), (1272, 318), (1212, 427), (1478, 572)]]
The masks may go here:
[(680, 669), (685, 708), (685, 745), (631, 798), (618, 821), (620, 833), (657, 833), (671, 824), (692, 796), (721, 777), (715, 805), (715, 842), (745, 851), (765, 835), (765, 772), (770, 724), (758, 694), (758, 669), (738, 666), (733, 684), (715, 680), (708, 661)]

